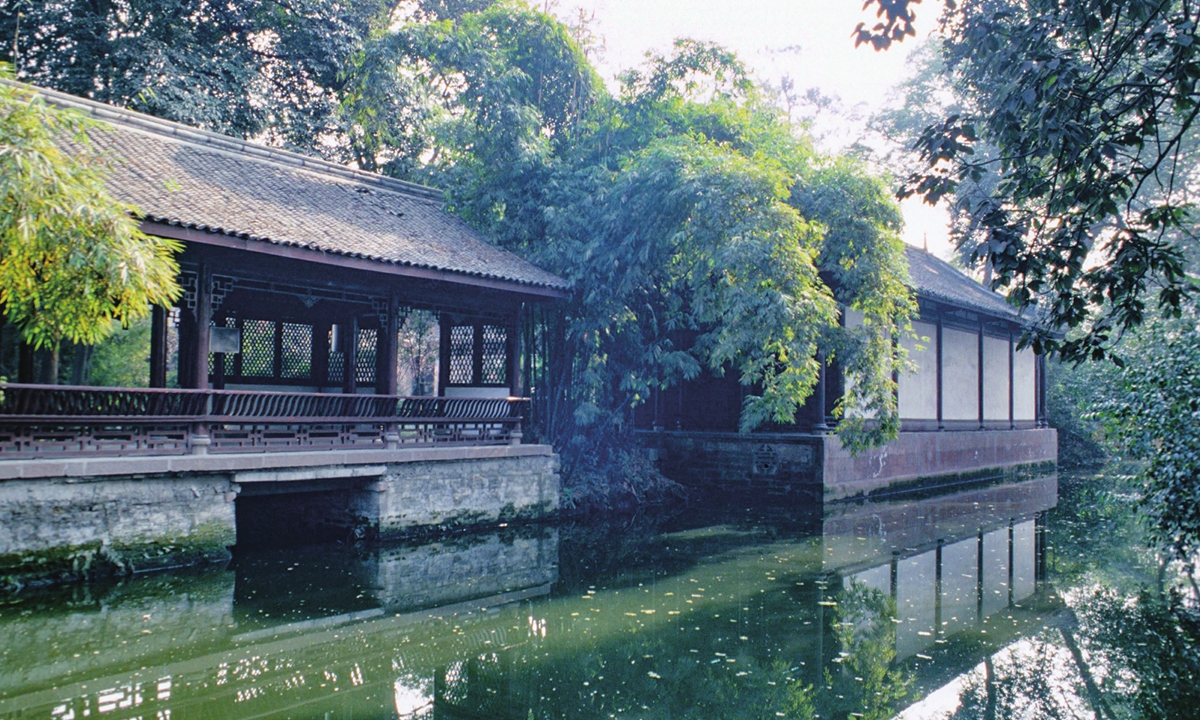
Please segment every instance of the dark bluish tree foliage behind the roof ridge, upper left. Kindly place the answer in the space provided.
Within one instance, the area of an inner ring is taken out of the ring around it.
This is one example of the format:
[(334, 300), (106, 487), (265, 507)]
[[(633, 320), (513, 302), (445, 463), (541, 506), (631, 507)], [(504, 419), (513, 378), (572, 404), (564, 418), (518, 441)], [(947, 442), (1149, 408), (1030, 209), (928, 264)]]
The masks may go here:
[[(416, 104), (365, 55), (397, 5), (14, 0), (0, 58), (29, 83), (373, 170), (389, 160), (377, 140), (400, 145)], [(384, 114), (364, 114), (365, 86)]]

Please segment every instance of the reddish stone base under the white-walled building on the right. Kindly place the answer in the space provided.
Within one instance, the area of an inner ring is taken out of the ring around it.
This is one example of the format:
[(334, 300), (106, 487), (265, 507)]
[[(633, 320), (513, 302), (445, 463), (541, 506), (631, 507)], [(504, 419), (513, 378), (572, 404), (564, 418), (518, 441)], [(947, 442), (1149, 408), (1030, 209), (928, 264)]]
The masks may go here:
[(852, 455), (834, 434), (647, 431), (640, 438), (662, 473), (701, 491), (829, 503), (1006, 475), (1052, 472), (1057, 432), (905, 432)]

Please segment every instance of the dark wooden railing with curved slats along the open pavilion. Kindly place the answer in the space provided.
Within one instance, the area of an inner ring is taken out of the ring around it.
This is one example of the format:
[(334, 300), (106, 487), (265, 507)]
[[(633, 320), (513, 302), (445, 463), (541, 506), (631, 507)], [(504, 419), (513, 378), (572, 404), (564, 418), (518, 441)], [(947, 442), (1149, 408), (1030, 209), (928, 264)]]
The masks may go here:
[(508, 445), (526, 402), (0, 384), (0, 461)]

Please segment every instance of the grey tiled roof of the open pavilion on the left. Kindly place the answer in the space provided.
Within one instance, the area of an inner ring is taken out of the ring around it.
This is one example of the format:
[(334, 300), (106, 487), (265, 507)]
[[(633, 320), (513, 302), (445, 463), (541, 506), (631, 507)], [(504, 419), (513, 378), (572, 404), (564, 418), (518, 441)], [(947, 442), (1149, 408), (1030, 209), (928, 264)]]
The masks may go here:
[(35, 89), (113, 127), (109, 187), (145, 220), (380, 263), (564, 289), (443, 210), (442, 192)]

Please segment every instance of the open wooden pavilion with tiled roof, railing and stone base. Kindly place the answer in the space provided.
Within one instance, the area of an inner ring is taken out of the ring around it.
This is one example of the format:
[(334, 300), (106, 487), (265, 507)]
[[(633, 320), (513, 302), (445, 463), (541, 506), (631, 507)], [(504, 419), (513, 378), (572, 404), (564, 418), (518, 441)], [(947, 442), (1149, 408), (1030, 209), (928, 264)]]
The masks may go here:
[[(37, 92), (110, 126), (91, 133), (109, 188), (180, 242), (184, 294), (154, 311), (150, 388), (32, 384), (23, 348), (0, 395), (16, 528), (0, 556), (67, 554), (62, 575), (228, 558), (244, 487), (334, 492), (341, 515), (318, 520), (372, 533), (557, 506), (551, 449), (521, 445), (518, 325), (563, 280), (490, 245), (437, 190)], [(414, 313), (436, 317), (437, 397), (397, 395)], [(392, 502), (422, 482), (421, 504)]]

